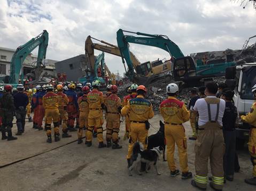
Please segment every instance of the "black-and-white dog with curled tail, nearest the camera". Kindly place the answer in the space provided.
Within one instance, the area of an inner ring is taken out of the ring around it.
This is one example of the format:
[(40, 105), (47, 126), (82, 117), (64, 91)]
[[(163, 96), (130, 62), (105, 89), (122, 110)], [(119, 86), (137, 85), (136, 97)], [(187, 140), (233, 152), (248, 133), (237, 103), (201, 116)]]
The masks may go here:
[(161, 175), (157, 169), (157, 161), (161, 155), (162, 148), (160, 146), (154, 147), (152, 149), (147, 149), (144, 151), (142, 143), (136, 142), (133, 146), (133, 155), (131, 155), (131, 166), (129, 167), (129, 176), (131, 175), (131, 170), (136, 167), (136, 170), (139, 175), (142, 173), (138, 169), (138, 164), (141, 162), (146, 163), (146, 172), (149, 169), (150, 165), (153, 164), (154, 168), (157, 171), (157, 175)]

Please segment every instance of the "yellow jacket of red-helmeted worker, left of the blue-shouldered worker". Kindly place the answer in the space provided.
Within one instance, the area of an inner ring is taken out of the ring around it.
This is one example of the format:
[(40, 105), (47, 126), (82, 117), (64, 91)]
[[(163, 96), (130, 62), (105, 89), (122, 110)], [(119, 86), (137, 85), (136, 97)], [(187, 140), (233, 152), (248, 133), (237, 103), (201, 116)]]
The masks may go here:
[(121, 99), (117, 94), (111, 94), (106, 98), (105, 105), (107, 107), (107, 113), (118, 114), (118, 109), (122, 107)]

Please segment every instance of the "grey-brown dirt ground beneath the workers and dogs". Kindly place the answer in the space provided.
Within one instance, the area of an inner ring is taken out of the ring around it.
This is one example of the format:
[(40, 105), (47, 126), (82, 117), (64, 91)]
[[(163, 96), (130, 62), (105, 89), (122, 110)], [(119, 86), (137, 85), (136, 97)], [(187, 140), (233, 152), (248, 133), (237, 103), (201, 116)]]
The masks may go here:
[[(158, 130), (161, 119), (160, 115), (156, 115), (150, 120), (153, 126), (150, 134)], [(186, 135), (189, 136), (189, 123), (184, 126)], [(16, 131), (14, 125), (13, 132)], [(129, 177), (125, 158), (128, 141), (122, 140), (124, 123), (120, 130), (120, 144), (123, 146), (121, 150), (98, 149), (96, 138), (91, 147), (78, 145), (75, 141), (76, 132), (71, 134), (72, 138), (48, 144), (45, 131), (34, 130), (32, 123), (26, 123), (26, 132), (18, 140), (0, 140), (0, 190), (197, 190), (190, 185), (191, 179), (170, 177), (167, 162), (162, 159), (158, 163), (160, 176), (152, 168), (142, 176), (133, 171), (133, 176)], [(189, 168), (193, 173), (194, 144), (195, 141), (188, 140)], [(256, 187), (244, 182), (244, 178), (252, 175), (250, 155), (246, 148), (239, 151), (238, 156), (241, 171), (235, 174), (233, 182), (227, 182), (223, 190), (255, 190)], [(30, 158), (25, 159), (27, 157)], [(179, 169), (177, 150), (175, 158)], [(210, 186), (207, 189), (211, 190)]]

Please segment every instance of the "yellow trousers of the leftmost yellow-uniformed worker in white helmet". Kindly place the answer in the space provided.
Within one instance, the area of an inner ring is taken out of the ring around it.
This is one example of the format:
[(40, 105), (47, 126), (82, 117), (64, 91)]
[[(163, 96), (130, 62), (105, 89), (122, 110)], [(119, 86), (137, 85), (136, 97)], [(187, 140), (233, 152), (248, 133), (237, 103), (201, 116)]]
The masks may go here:
[(51, 135), (51, 123), (53, 121), (54, 134), (59, 135), (59, 110), (58, 109), (45, 109), (45, 129), (46, 135)]

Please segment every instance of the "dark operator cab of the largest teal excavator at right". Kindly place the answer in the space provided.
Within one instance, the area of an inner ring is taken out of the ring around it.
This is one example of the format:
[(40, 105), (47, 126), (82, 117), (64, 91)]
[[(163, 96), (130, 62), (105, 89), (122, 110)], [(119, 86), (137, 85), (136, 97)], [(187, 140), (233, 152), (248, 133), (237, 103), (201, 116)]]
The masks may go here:
[(188, 77), (196, 77), (195, 61), (191, 56), (185, 56), (180, 57), (179, 59), (175, 59), (172, 71), (175, 81), (184, 81)]

